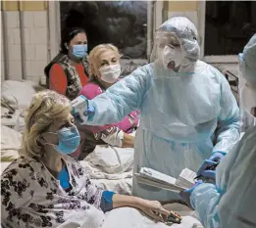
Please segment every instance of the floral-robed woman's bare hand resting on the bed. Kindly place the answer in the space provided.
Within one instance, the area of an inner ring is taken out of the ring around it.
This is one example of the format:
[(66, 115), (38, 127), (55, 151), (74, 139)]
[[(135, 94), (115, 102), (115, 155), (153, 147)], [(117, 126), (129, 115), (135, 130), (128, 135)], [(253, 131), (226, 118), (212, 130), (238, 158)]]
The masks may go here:
[(147, 201), (143, 199), (139, 199), (139, 209), (146, 213), (149, 217), (164, 222), (165, 218), (167, 218), (170, 214), (170, 211), (165, 209), (159, 202), (157, 201)]

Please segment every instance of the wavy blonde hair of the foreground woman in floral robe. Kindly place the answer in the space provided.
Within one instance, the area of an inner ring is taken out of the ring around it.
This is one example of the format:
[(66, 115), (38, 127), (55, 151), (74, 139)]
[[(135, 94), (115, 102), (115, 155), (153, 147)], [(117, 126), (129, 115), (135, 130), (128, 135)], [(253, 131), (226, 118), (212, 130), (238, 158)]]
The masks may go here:
[(26, 129), (20, 154), (25, 157), (42, 156), (42, 133), (71, 112), (70, 100), (55, 91), (44, 90), (33, 95), (26, 114)]

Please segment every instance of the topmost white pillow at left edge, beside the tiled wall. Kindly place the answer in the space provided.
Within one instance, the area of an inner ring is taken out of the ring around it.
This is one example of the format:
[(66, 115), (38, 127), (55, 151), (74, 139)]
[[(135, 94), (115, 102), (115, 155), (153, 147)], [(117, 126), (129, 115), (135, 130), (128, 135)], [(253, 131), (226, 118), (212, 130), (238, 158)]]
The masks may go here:
[(28, 108), (35, 89), (31, 81), (6, 80), (2, 83), (1, 101), (16, 110)]

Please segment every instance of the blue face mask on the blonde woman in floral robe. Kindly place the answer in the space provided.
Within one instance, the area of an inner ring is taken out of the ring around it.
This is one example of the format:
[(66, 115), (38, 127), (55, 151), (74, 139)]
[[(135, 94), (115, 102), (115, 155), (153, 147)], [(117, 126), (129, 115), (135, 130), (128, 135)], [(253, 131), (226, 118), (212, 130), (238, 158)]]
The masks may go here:
[(72, 127), (64, 127), (54, 132), (47, 132), (51, 134), (57, 134), (59, 138), (59, 145), (54, 145), (50, 143), (46, 143), (54, 146), (55, 150), (61, 154), (69, 155), (75, 152), (80, 143), (80, 135), (77, 130), (77, 126)]

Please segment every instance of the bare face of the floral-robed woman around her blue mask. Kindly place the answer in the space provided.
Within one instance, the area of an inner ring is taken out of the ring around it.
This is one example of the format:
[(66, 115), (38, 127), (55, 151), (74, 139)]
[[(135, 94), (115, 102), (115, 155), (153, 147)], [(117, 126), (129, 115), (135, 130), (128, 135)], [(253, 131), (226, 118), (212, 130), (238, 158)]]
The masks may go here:
[(58, 145), (58, 143), (59, 143), (58, 135), (51, 134), (48, 132), (57, 133), (58, 130), (60, 130), (64, 127), (72, 127), (74, 125), (75, 125), (74, 117), (72, 114), (69, 114), (66, 118), (53, 121), (53, 123), (50, 125), (50, 127), (47, 129), (47, 131), (43, 133), (43, 138), (49, 144)]

